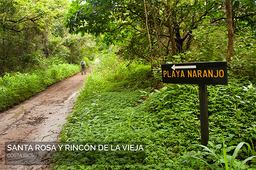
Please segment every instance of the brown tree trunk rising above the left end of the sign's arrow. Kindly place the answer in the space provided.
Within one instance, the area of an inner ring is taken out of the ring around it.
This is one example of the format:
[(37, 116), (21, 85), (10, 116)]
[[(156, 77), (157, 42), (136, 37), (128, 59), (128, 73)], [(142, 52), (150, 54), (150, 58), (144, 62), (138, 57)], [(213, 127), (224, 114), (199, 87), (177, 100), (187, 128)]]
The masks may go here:
[(169, 29), (169, 36), (170, 36), (171, 45), (172, 45), (172, 56), (175, 56), (175, 55), (177, 55), (177, 51), (176, 51), (176, 43), (175, 43), (175, 37), (174, 37), (174, 30), (172, 28), (172, 10), (171, 10), (171, 5), (172, 5), (171, 0), (167, 0), (167, 14), (168, 14), (167, 26), (168, 26), (168, 29)]

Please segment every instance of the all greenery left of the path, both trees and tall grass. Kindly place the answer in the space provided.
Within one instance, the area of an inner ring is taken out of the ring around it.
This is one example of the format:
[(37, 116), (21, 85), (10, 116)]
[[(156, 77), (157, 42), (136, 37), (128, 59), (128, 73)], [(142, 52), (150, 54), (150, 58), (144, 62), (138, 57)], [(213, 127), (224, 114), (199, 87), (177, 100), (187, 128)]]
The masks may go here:
[(0, 1), (0, 110), (77, 73), (82, 58), (90, 66), (105, 48), (96, 47), (90, 35), (68, 34), (63, 24), (68, 4)]

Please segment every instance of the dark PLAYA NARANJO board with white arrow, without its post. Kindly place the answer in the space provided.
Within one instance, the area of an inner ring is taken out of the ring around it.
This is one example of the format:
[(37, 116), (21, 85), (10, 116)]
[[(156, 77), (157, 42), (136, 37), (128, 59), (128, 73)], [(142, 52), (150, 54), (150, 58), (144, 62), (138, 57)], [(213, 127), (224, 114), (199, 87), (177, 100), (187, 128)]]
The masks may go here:
[(227, 85), (227, 62), (162, 64), (163, 83)]

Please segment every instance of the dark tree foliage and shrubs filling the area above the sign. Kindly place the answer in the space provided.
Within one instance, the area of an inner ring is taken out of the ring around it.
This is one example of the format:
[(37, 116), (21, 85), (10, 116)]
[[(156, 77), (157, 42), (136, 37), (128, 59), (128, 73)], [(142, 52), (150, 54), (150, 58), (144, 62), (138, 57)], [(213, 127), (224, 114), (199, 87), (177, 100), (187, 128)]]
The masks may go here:
[[(234, 44), (240, 47), (240, 40), (248, 33), (253, 37), (250, 41), (255, 40), (256, 3), (231, 0), (230, 5)], [(177, 62), (172, 57), (172, 37), (182, 62), (187, 61), (187, 53), (199, 61), (225, 60), (225, 13), (225, 1), (221, 0), (76, 0), (66, 14), (66, 26), (71, 34), (102, 35), (106, 44), (122, 46), (119, 52), (125, 59), (143, 59), (158, 67), (167, 61)], [(254, 44), (250, 43), (248, 47)], [(191, 50), (196, 52), (190, 53)], [(242, 56), (236, 54), (237, 57)]]

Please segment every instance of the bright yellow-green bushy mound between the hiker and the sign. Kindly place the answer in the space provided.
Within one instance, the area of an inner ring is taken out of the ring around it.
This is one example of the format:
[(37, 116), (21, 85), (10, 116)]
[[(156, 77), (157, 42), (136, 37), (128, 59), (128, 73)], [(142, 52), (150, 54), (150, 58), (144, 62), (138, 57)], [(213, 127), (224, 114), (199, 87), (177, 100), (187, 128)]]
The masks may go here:
[(122, 61), (115, 55), (116, 49), (105, 51), (98, 62), (92, 68), (92, 74), (99, 75), (106, 91), (123, 91), (126, 89), (136, 90), (139, 88), (148, 88), (153, 86), (153, 77), (151, 67), (148, 65), (131, 64)]

